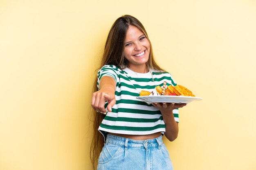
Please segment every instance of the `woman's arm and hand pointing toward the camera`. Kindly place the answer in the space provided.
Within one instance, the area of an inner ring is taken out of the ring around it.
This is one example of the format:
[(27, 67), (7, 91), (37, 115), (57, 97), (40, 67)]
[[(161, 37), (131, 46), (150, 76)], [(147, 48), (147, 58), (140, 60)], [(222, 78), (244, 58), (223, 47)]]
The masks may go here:
[(108, 102), (107, 109), (111, 111), (111, 108), (115, 105), (115, 79), (110, 76), (103, 76), (99, 82), (99, 91), (92, 94), (92, 108), (100, 113), (106, 114), (105, 102)]

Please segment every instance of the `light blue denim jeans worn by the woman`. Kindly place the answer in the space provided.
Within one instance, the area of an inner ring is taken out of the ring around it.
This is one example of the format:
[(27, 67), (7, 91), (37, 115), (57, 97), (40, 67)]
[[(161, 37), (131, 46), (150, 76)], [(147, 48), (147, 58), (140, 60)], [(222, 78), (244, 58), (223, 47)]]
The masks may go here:
[(173, 165), (162, 135), (132, 140), (108, 134), (97, 170), (173, 170)]

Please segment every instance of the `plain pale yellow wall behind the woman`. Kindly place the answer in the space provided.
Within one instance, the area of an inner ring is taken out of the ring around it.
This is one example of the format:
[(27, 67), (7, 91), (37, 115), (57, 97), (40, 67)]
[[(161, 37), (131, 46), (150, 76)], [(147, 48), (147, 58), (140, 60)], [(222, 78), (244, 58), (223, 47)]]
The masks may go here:
[(203, 100), (164, 139), (175, 170), (256, 169), (254, 0), (1, 0), (0, 169), (90, 170), (88, 112), (117, 17), (144, 24), (155, 57)]

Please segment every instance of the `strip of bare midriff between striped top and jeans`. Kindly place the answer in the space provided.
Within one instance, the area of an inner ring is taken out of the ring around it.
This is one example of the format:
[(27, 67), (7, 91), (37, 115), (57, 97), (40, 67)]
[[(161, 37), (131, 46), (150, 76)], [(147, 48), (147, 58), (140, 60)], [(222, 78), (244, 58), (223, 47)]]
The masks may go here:
[(149, 134), (149, 135), (127, 135), (127, 134), (110, 133), (110, 132), (108, 132), (108, 134), (116, 135), (116, 136), (120, 136), (120, 137), (125, 137), (125, 138), (133, 139), (133, 140), (154, 139), (154, 138), (157, 138), (157, 137), (162, 135), (162, 133), (160, 133), (160, 132), (152, 133), (152, 134)]

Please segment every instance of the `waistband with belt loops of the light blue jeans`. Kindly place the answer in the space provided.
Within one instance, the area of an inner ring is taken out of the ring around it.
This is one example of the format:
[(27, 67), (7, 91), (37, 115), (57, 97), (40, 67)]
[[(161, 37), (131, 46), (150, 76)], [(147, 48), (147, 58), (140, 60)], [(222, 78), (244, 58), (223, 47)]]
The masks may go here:
[(125, 137), (107, 134), (106, 143), (125, 146), (126, 149), (127, 147), (134, 147), (134, 148), (158, 147), (159, 148), (163, 144), (163, 140), (162, 140), (162, 135), (155, 139), (133, 140)]

